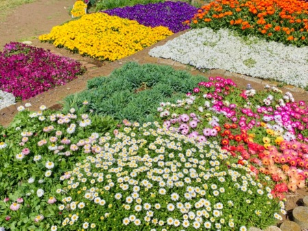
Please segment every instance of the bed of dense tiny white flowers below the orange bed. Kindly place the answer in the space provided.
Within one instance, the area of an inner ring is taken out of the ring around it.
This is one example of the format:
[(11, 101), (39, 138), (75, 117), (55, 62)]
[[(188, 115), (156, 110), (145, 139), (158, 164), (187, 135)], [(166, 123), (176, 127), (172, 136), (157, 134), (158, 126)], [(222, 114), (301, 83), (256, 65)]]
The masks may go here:
[(193, 29), (149, 55), (196, 68), (224, 69), (297, 87), (308, 85), (308, 47), (285, 46), (257, 37), (235, 36), (229, 29)]

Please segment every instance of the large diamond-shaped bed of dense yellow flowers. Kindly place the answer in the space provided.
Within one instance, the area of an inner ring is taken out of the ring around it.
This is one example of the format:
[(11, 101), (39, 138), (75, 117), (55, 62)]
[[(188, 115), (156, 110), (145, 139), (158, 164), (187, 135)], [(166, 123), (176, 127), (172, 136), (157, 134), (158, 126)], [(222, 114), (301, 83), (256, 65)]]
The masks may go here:
[(81, 55), (114, 61), (141, 51), (172, 35), (166, 27), (146, 27), (137, 21), (104, 13), (85, 14), (76, 21), (55, 26), (41, 41), (64, 46)]

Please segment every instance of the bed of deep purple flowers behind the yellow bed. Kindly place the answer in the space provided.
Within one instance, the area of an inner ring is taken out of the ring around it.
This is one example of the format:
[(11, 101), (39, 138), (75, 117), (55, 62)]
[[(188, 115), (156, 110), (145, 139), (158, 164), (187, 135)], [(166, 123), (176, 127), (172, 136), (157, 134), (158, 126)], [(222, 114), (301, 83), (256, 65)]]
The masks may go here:
[(153, 3), (146, 5), (127, 6), (125, 8), (115, 8), (105, 10), (106, 14), (129, 18), (147, 27), (168, 27), (173, 33), (188, 29), (188, 25), (183, 25), (196, 13), (196, 8), (181, 1), (164, 3)]

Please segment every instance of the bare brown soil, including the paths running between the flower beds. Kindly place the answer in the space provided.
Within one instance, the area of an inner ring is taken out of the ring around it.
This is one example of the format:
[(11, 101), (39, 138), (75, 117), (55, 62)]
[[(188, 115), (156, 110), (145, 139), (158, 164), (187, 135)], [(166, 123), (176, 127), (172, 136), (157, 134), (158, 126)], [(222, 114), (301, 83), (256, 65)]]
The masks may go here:
[[(140, 64), (155, 63), (161, 65), (170, 65), (178, 70), (188, 70), (192, 74), (203, 74), (205, 77), (219, 75), (233, 79), (233, 81), (235, 81), (235, 83), (237, 83), (238, 86), (242, 88), (246, 87), (247, 83), (251, 83), (255, 90), (264, 89), (265, 84), (277, 85), (275, 82), (259, 81), (257, 79), (246, 77), (243, 78), (241, 74), (233, 74), (224, 70), (210, 70), (203, 73), (198, 70), (194, 70), (194, 68), (190, 68), (189, 66), (179, 64), (169, 59), (149, 57), (148, 52), (152, 47), (144, 49), (143, 51), (140, 51), (124, 59), (120, 59), (116, 62), (99, 62), (90, 57), (83, 57), (76, 53), (71, 53), (66, 49), (57, 49), (52, 44), (40, 42), (38, 40), (38, 36), (40, 36), (40, 34), (49, 33), (53, 26), (60, 25), (70, 20), (71, 17), (68, 12), (74, 2), (75, 0), (38, 0), (34, 3), (29, 3), (16, 8), (16, 10), (14, 10), (4, 22), (0, 23), (0, 51), (8, 42), (22, 42), (27, 40), (31, 41), (32, 45), (34, 46), (48, 49), (57, 55), (64, 55), (66, 57), (71, 57), (75, 60), (78, 60), (84, 64), (86, 68), (88, 68), (86, 74), (84, 74), (82, 77), (79, 77), (75, 81), (71, 81), (70, 83), (67, 83), (63, 86), (55, 87), (54, 90), (44, 92), (43, 94), (40, 94), (34, 98), (25, 100), (21, 103), (16, 103), (16, 105), (12, 105), (8, 108), (0, 110), (0, 125), (8, 126), (16, 114), (16, 107), (22, 104), (24, 105), (28, 102), (31, 103), (32, 107), (30, 109), (33, 110), (38, 110), (40, 105), (46, 105), (52, 109), (61, 109), (61, 100), (68, 94), (74, 94), (75, 92), (80, 92), (86, 89), (86, 82), (88, 79), (99, 76), (108, 76), (112, 70), (114, 70), (114, 68), (119, 68), (125, 62), (130, 61), (138, 62)], [(179, 36), (181, 33), (185, 33), (185, 31), (172, 35), (166, 40), (158, 42), (156, 45), (162, 45), (166, 43), (166, 41)], [(298, 90), (296, 87), (292, 87), (290, 85), (287, 85), (281, 89), (283, 92), (291, 91), (296, 100), (305, 100), (308, 102), (308, 92), (305, 92), (304, 90)], [(138, 90), (138, 92), (139, 91), (142, 91), (142, 89)], [(289, 215), (291, 214), (290, 212), (292, 212), (293, 208), (300, 205), (300, 202), (305, 195), (308, 195), (307, 188), (297, 190), (295, 193), (287, 194), (286, 209), (289, 212)], [(284, 216), (284, 219), (292, 219), (292, 216)]]

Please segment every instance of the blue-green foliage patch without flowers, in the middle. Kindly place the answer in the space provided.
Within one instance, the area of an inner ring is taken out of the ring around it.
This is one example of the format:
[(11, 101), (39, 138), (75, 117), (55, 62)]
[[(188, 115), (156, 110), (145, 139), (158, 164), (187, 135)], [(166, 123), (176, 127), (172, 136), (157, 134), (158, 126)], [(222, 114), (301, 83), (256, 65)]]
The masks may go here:
[(205, 77), (194, 77), (168, 66), (139, 65), (134, 62), (114, 70), (110, 77), (88, 81), (88, 90), (65, 99), (65, 108), (89, 102), (88, 110), (118, 120), (153, 121), (158, 103), (183, 98)]

